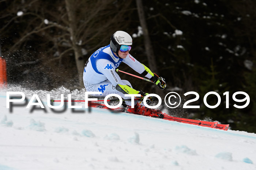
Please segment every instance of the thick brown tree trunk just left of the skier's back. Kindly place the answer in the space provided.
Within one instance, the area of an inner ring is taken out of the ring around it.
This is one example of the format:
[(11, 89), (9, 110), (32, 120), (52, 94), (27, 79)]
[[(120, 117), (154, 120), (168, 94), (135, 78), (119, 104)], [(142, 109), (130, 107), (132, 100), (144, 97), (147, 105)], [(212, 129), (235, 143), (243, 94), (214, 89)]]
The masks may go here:
[(79, 86), (83, 86), (83, 57), (82, 57), (82, 49), (77, 44), (78, 38), (76, 36), (76, 18), (75, 18), (75, 9), (72, 6), (74, 3), (72, 0), (65, 0), (67, 14), (68, 14), (68, 21), (69, 21), (69, 32), (71, 35), (72, 41), (72, 48), (75, 52), (75, 61), (76, 61), (76, 69), (78, 72), (78, 79), (79, 79)]

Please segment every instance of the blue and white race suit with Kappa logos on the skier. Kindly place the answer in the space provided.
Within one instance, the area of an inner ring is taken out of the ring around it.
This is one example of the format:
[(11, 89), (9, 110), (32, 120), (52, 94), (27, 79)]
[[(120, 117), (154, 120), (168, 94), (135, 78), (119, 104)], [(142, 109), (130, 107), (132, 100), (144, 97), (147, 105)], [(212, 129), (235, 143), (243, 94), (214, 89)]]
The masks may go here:
[[(118, 56), (114, 55), (110, 49), (110, 45), (101, 47), (90, 56), (85, 64), (83, 71), (83, 82), (86, 90), (102, 92), (101, 95), (94, 96), (118, 94), (123, 99), (131, 99), (131, 97), (125, 97), (122, 92), (116, 90), (117, 84), (132, 87), (131, 83), (129, 83), (127, 80), (121, 80), (115, 71), (121, 62), (124, 62), (139, 74), (142, 74), (145, 71), (145, 67), (138, 62), (138, 60), (133, 58), (132, 55), (128, 54), (125, 59), (120, 59)], [(146, 77), (152, 78), (152, 75), (147, 73)], [(125, 103), (131, 106), (130, 101), (125, 101)]]

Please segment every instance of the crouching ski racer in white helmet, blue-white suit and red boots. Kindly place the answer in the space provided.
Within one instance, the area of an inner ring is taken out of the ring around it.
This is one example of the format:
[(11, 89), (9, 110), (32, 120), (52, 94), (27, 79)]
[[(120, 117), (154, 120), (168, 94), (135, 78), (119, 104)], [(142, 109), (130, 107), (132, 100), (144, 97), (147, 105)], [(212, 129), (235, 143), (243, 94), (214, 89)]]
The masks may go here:
[[(149, 68), (129, 54), (131, 45), (132, 37), (127, 32), (115, 32), (110, 37), (110, 44), (99, 48), (86, 62), (83, 71), (84, 87), (87, 91), (102, 92), (101, 95), (94, 96), (118, 94), (123, 99), (131, 99), (131, 97), (125, 97), (124, 94), (140, 94), (140, 97), (135, 97), (138, 100), (135, 100), (134, 108), (131, 107), (131, 100), (125, 100), (127, 111), (133, 114), (163, 118), (164, 114), (161, 111), (147, 108), (143, 102), (140, 102), (143, 101), (147, 93), (133, 89), (131, 83), (127, 80), (121, 80), (115, 71), (120, 63), (123, 62), (139, 74), (149, 78), (161, 90), (166, 87), (164, 78), (151, 72)], [(152, 98), (148, 98), (148, 100), (151, 102)]]

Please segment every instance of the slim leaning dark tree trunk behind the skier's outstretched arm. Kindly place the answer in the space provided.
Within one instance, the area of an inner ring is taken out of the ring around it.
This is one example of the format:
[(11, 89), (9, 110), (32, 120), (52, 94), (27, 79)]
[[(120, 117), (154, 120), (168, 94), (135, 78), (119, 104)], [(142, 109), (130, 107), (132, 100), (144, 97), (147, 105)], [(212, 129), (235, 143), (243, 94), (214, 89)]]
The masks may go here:
[[(148, 35), (147, 23), (146, 23), (146, 19), (145, 19), (145, 15), (144, 15), (142, 0), (136, 0), (136, 4), (137, 4), (137, 10), (138, 10), (138, 15), (139, 15), (140, 25), (142, 27), (143, 36), (144, 36), (144, 46), (145, 46), (145, 49), (146, 49), (146, 55), (147, 55), (147, 59), (148, 59), (148, 66), (149, 66), (149, 68), (152, 72), (157, 73), (158, 72), (157, 64), (156, 64), (155, 55), (154, 55), (153, 47), (152, 47), (152, 44), (151, 44), (151, 40), (150, 40), (150, 37)], [(161, 89), (159, 89), (158, 87), (155, 87), (155, 90), (156, 90), (156, 92), (159, 96), (163, 97), (163, 91)]]

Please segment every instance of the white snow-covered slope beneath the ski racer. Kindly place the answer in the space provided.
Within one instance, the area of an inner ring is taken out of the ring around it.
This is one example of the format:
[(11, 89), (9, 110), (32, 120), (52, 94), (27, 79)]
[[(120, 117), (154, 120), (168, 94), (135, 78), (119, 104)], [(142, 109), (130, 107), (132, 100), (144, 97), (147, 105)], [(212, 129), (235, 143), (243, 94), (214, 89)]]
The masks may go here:
[(256, 134), (44, 105), (47, 113), (26, 106), (10, 113), (0, 92), (0, 170), (256, 169)]

